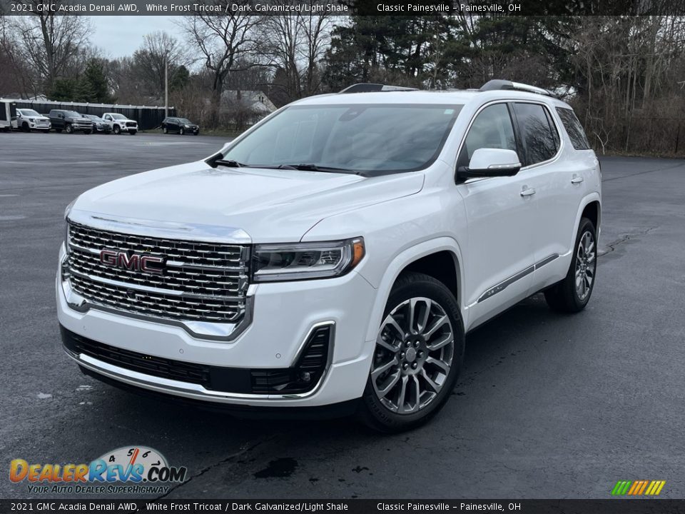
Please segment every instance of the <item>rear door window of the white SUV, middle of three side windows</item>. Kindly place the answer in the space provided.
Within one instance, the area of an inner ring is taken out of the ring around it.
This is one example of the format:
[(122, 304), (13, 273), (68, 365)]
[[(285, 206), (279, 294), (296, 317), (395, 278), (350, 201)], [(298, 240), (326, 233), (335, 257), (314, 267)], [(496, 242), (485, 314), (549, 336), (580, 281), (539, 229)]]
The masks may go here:
[(559, 150), (559, 133), (547, 109), (540, 104), (514, 104), (514, 112), (526, 147), (527, 166), (549, 161)]

